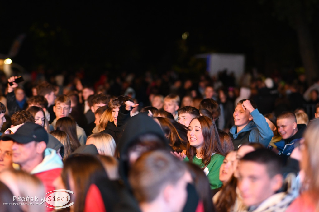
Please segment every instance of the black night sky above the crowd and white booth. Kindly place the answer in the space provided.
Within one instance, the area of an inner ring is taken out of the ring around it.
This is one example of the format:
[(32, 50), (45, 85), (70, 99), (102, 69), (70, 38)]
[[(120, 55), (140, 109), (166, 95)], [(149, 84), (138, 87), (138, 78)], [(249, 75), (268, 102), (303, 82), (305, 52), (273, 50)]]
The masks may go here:
[[(0, 53), (26, 33), (13, 62), (27, 71), (40, 64), (56, 71), (189, 69), (198, 53), (244, 53), (246, 68), (260, 72), (302, 66), (296, 32), (275, 6), (253, 0), (8, 1)], [(311, 24), (317, 19), (312, 16)]]

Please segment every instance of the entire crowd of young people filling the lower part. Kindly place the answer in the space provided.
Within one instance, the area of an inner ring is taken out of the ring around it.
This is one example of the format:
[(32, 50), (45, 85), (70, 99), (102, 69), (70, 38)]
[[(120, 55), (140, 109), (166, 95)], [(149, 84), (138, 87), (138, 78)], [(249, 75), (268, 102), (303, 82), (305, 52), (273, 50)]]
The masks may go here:
[(319, 80), (16, 79), (0, 211), (319, 211)]

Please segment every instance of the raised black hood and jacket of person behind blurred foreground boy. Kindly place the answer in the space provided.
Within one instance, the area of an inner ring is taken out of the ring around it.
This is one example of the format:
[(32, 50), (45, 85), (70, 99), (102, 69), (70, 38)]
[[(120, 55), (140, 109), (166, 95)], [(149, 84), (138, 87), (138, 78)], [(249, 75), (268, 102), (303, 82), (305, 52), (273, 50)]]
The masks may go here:
[[(113, 181), (112, 187), (114, 192), (112, 194), (108, 192), (108, 189), (105, 189), (108, 186), (108, 182), (100, 182), (97, 184), (97, 187), (100, 189), (101, 195), (103, 197), (104, 204), (109, 205), (107, 212), (141, 211), (138, 206), (138, 202), (130, 190), (130, 184), (128, 182), (128, 150), (130, 146), (135, 144), (135, 141), (139, 136), (145, 134), (156, 135), (159, 140), (162, 140), (163, 146), (169, 147), (163, 131), (152, 118), (148, 117), (144, 113), (140, 113), (129, 118), (124, 126), (124, 130), (122, 131), (122, 135), (117, 144), (118, 152), (120, 152), (119, 173), (121, 180)], [(110, 202), (110, 199), (113, 199), (114, 201)]]

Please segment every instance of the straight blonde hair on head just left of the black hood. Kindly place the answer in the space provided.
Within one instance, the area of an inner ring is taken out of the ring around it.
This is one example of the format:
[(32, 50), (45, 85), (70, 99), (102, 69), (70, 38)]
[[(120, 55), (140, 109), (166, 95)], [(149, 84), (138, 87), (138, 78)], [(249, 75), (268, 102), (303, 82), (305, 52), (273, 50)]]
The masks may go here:
[[(92, 139), (89, 141), (90, 138)], [(116, 146), (115, 141), (114, 138), (108, 133), (94, 133), (87, 137), (86, 144), (95, 145), (100, 155), (114, 155)]]

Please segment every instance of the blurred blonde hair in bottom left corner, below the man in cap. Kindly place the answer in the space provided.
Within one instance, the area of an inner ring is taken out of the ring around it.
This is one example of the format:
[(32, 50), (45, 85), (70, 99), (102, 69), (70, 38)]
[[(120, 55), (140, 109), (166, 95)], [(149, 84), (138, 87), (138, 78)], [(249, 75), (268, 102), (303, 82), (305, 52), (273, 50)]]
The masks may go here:
[[(1, 173), (0, 180), (11, 190), (14, 196), (26, 198), (24, 203), (34, 203), (34, 196), (44, 197), (45, 195), (45, 187), (41, 180), (22, 170), (6, 170)], [(44, 204), (20, 205), (20, 208), (23, 211), (35, 212), (45, 210)]]

